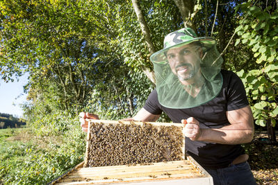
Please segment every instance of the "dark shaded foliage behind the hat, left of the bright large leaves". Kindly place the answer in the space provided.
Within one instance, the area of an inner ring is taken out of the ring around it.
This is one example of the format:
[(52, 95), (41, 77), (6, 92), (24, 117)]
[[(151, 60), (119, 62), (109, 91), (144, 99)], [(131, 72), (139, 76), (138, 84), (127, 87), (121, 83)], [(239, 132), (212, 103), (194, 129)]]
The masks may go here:
[[(234, 1), (199, 1), (193, 19), (199, 36), (213, 37), (217, 41), (218, 51), (224, 60), (223, 69), (240, 71), (241, 69), (254, 68), (255, 60), (251, 49), (245, 44), (238, 44), (234, 30), (239, 25), (240, 11), (235, 7), (245, 0)], [(236, 14), (236, 16), (235, 16)], [(215, 20), (215, 21), (214, 21)], [(235, 55), (236, 53), (236, 55)]]

